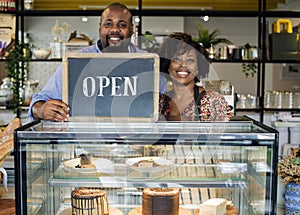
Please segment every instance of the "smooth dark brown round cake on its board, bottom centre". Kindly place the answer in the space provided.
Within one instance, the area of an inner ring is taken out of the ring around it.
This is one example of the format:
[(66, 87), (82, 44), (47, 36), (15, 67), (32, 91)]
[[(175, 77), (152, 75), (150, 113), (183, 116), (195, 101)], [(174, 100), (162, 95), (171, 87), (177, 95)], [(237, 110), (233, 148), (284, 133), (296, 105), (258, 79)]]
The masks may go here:
[(142, 207), (132, 209), (128, 215), (191, 215), (189, 210), (179, 207), (179, 189), (145, 188)]

